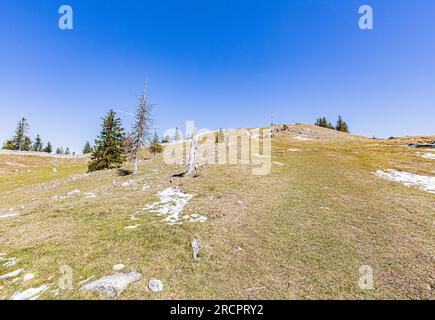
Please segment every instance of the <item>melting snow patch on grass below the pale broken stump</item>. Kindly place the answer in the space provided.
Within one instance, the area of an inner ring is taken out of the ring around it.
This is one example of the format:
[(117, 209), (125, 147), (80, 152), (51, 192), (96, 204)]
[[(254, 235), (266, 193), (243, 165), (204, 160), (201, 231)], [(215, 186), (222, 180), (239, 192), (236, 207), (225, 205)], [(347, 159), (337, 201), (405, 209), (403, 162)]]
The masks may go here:
[(184, 207), (192, 199), (192, 195), (183, 193), (179, 188), (167, 188), (157, 196), (160, 201), (147, 205), (144, 210), (166, 216), (161, 222), (169, 225), (183, 224), (183, 222), (205, 222), (207, 217), (199, 214), (182, 215)]

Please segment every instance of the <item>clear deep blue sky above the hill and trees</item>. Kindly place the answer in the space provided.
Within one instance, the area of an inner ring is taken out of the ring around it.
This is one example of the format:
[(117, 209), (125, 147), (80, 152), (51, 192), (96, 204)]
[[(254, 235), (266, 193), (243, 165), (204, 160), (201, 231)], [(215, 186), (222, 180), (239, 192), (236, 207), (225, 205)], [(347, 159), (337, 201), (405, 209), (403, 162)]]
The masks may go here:
[[(58, 28), (62, 4), (72, 31)], [(362, 4), (374, 30), (358, 28)], [(135, 111), (146, 76), (160, 133), (265, 126), (274, 112), (435, 134), (435, 1), (2, 1), (1, 143), (24, 116), (32, 137), (80, 152), (109, 108)]]

